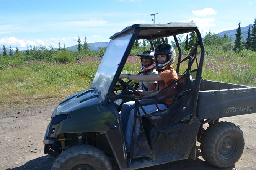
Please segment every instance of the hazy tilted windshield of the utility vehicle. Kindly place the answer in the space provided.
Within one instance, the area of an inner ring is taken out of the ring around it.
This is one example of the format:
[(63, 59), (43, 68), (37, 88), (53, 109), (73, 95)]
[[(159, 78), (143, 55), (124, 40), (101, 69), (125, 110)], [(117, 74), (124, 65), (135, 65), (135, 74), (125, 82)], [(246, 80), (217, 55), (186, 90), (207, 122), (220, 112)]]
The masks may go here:
[(91, 85), (91, 88), (96, 88), (96, 90), (99, 91), (101, 101), (104, 100), (105, 95), (108, 93), (108, 89), (114, 75), (116, 74), (119, 63), (124, 56), (124, 52), (126, 51), (131, 37), (132, 34), (128, 34), (109, 42), (108, 48), (104, 53), (101, 64), (99, 64), (99, 68)]

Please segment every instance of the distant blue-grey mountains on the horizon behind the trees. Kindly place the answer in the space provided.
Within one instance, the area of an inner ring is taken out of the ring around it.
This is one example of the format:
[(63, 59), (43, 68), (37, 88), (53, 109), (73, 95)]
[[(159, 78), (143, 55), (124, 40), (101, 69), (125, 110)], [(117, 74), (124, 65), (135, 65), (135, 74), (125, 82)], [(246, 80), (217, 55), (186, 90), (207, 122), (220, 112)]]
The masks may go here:
[[(242, 41), (246, 41), (246, 38), (247, 38), (247, 32), (248, 32), (248, 28), (249, 26), (251, 27), (252, 29), (252, 24), (246, 26), (246, 27), (241, 27), (241, 31), (242, 31)], [(233, 29), (233, 30), (227, 30), (227, 31), (222, 31), (222, 32), (219, 32), (217, 35), (219, 37), (223, 37), (224, 34), (226, 33), (226, 35), (228, 35), (228, 38), (231, 38), (232, 42), (235, 42), (236, 40), (236, 29)], [(98, 50), (98, 48), (102, 48), (102, 47), (107, 47), (108, 46), (108, 42), (95, 42), (95, 43), (88, 43), (89, 47), (90, 47), (90, 50)], [(5, 47), (6, 48), (6, 51), (7, 53), (9, 53), (9, 48), (8, 47)], [(66, 48), (67, 50), (70, 50), (70, 51), (77, 51), (77, 44), (76, 45), (73, 45), (73, 46), (70, 46), (70, 47), (67, 47)], [(13, 49), (13, 52), (15, 53), (15, 49)], [(0, 48), (0, 53), (2, 54), (3, 53), (3, 47)]]

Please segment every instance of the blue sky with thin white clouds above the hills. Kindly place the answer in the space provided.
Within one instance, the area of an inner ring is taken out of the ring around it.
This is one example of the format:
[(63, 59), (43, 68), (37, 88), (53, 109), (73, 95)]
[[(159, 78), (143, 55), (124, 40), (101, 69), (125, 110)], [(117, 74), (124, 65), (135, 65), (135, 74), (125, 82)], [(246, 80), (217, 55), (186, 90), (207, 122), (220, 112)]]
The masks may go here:
[(0, 47), (109, 42), (138, 23), (191, 22), (205, 34), (253, 24), (256, 0), (0, 0)]

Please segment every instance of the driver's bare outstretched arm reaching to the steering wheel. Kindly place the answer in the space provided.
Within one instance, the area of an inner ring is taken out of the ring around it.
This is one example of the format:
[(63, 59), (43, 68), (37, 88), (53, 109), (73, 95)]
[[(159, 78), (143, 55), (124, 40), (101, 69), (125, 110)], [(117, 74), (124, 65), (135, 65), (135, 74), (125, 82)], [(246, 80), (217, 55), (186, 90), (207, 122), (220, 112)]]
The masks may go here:
[(140, 75), (140, 74), (131, 74), (128, 76), (128, 74), (121, 74), (119, 76), (119, 79), (126, 78), (129, 80), (135, 80), (135, 81), (143, 81), (143, 82), (150, 82), (150, 81), (161, 81), (163, 80), (160, 75), (158, 74), (152, 74), (152, 75)]

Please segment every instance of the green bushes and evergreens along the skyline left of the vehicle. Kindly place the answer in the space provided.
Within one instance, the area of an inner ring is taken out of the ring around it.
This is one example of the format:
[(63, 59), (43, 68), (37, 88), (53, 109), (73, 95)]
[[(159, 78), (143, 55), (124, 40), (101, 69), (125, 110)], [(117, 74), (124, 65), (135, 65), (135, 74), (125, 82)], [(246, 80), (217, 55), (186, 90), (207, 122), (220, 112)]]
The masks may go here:
[(83, 45), (81, 44), (80, 37), (78, 37), (78, 51), (70, 51), (66, 49), (65, 43), (63, 47), (60, 42), (58, 47), (54, 48), (53, 46), (27, 46), (27, 49), (23, 52), (19, 51), (16, 47), (15, 52), (13, 48), (9, 48), (9, 54), (7, 54), (7, 49), (3, 45), (3, 54), (0, 54), (0, 69), (15, 65), (21, 64), (29, 61), (49, 61), (49, 62), (59, 62), (59, 63), (70, 63), (80, 60), (82, 57), (86, 56), (103, 56), (105, 53), (106, 47), (99, 48), (98, 50), (90, 51), (87, 38)]

